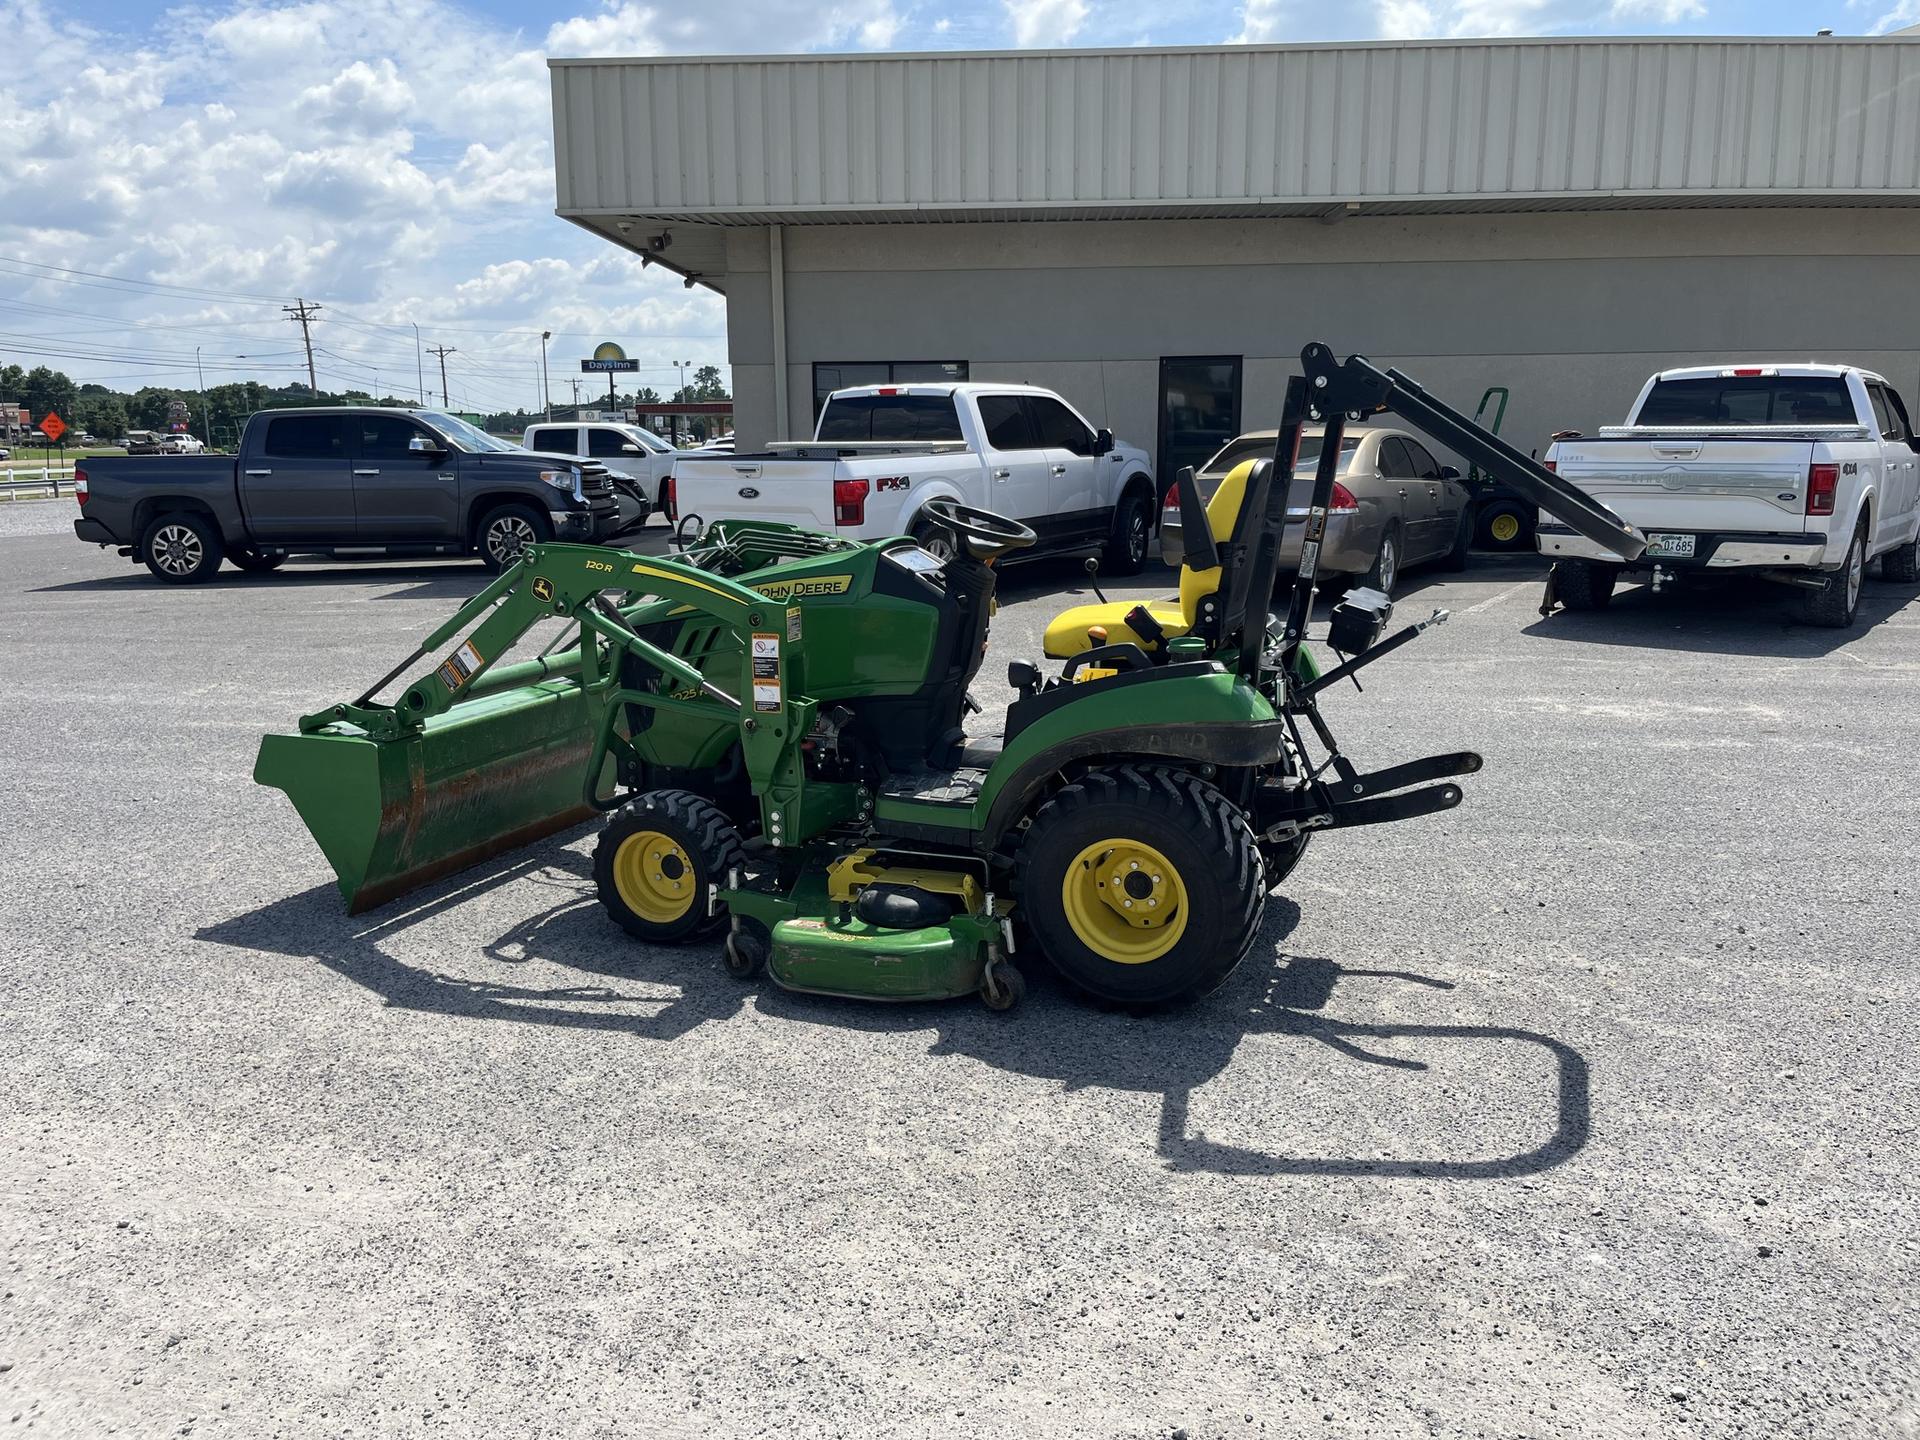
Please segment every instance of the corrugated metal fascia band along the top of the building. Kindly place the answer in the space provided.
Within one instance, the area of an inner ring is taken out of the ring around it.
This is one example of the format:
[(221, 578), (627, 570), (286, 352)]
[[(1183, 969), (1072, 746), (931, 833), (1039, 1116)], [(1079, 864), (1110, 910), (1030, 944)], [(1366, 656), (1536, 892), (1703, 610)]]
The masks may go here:
[(707, 225), (1920, 204), (1920, 42), (557, 60), (559, 213)]

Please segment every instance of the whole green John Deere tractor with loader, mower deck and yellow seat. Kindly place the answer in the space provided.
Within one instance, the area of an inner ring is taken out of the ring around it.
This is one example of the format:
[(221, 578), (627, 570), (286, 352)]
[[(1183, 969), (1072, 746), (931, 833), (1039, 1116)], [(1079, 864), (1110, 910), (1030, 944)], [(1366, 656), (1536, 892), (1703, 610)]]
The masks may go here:
[[(1642, 547), (1405, 376), (1325, 346), (1302, 361), (1275, 459), (1244, 467), (1215, 515), (1181, 490), (1198, 543), (1177, 618), (1077, 614), (1091, 636), (1058, 676), (1010, 666), (1002, 733), (968, 732), (968, 684), (993, 561), (1033, 532), (935, 501), (958, 541), (945, 564), (906, 538), (733, 520), (676, 559), (534, 547), (357, 701), (267, 735), (255, 780), (288, 793), (353, 910), (607, 812), (593, 870), (612, 920), (659, 945), (724, 933), (741, 977), (1006, 1008), (1023, 989), (1012, 956), (1039, 952), (1098, 1000), (1206, 995), (1315, 829), (1446, 810), (1480, 766), (1363, 774), (1319, 710), (1430, 624), (1380, 641), (1390, 607), (1361, 595), (1331, 637), (1352, 659), (1321, 674), (1302, 647), (1346, 419), (1392, 409), (1597, 543)], [(1308, 420), (1329, 438), (1273, 614)], [(501, 662), (543, 622), (553, 643)]]

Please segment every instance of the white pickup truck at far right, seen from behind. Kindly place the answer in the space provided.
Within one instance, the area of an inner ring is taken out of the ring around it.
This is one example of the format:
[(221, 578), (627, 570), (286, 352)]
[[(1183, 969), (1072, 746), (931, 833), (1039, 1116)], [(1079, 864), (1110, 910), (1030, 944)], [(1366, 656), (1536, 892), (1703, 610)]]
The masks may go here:
[(1920, 440), (1885, 378), (1851, 365), (1661, 371), (1628, 422), (1559, 440), (1546, 465), (1640, 526), (1619, 555), (1542, 516), (1540, 553), (1571, 611), (1626, 570), (1655, 582), (1747, 574), (1801, 589), (1807, 620), (1849, 626), (1866, 564), (1920, 578)]

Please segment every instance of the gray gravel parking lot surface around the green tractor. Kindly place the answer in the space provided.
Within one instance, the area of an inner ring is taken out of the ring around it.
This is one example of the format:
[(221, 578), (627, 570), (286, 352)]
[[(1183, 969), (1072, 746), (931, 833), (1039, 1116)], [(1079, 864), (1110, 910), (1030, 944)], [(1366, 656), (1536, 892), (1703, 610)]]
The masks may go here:
[(1329, 712), (1467, 803), (1315, 841), (1194, 1010), (1000, 1018), (637, 947), (589, 831), (349, 920), (257, 737), (478, 566), (163, 589), (71, 515), (0, 507), (21, 1430), (1920, 1432), (1907, 588), (1415, 572)]

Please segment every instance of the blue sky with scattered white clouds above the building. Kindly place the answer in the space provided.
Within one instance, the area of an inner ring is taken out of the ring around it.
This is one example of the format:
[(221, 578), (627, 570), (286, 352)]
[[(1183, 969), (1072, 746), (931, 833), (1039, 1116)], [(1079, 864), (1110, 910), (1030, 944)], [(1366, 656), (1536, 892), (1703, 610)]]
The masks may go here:
[[(0, 0), (0, 363), (140, 384), (303, 374), (532, 405), (618, 340), (643, 382), (726, 363), (722, 301), (553, 217), (545, 58), (1413, 38), (1841, 35), (1920, 0)], [(198, 351), (198, 355), (196, 355)]]

